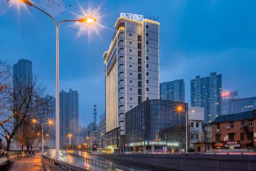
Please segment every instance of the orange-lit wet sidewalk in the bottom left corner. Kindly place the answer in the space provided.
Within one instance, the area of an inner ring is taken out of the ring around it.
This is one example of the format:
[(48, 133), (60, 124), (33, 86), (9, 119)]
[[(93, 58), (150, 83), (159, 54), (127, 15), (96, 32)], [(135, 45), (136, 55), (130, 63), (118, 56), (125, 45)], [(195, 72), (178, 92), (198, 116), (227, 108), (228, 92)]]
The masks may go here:
[(31, 155), (31, 157), (24, 157), (21, 160), (12, 159), (11, 162), (13, 163), (11, 167), (8, 169), (10, 171), (16, 170), (44, 170), (41, 164), (41, 154)]

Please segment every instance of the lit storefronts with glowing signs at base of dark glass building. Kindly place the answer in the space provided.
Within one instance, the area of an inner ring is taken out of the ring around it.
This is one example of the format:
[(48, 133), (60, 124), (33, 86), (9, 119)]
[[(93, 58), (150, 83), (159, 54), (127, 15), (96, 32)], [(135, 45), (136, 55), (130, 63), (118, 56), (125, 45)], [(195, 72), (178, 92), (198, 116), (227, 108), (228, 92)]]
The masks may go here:
[(179, 143), (145, 140), (125, 144), (126, 152), (178, 152)]

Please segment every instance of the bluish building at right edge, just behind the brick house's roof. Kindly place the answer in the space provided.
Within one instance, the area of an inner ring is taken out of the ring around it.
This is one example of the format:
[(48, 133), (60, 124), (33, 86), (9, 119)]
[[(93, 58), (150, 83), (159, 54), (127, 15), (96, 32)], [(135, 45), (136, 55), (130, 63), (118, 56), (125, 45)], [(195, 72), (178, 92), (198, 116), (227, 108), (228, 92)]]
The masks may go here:
[(256, 109), (256, 97), (247, 97), (247, 98), (230, 100), (230, 104), (229, 104), (230, 114), (249, 112), (254, 109)]

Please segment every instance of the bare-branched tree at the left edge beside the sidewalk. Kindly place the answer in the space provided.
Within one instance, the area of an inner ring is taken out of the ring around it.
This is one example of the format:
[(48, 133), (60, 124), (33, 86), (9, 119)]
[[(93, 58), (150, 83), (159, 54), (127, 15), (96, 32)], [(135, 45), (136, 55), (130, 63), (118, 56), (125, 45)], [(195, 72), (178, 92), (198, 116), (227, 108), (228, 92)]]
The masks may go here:
[(13, 89), (9, 89), (0, 101), (0, 127), (3, 130), (0, 134), (6, 139), (8, 156), (11, 140), (22, 124), (31, 122), (35, 117), (42, 118), (49, 109), (47, 99), (42, 98), (45, 87), (38, 84), (37, 76), (26, 85), (15, 77), (13, 80)]

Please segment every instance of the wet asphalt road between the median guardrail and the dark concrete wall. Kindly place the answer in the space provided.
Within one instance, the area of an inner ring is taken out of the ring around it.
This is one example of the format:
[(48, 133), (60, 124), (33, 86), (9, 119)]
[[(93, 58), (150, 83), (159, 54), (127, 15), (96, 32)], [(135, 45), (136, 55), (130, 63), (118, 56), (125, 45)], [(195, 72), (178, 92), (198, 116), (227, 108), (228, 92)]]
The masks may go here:
[[(107, 163), (110, 163), (113, 165), (119, 165), (121, 167), (126, 167), (126, 170), (129, 170), (129, 171), (133, 171), (133, 170), (166, 171), (166, 170), (169, 170), (169, 169), (162, 169), (159, 167), (152, 167), (150, 165), (137, 164), (137, 163), (129, 162), (126, 160), (113, 160), (111, 158), (103, 157), (103, 156), (97, 155), (97, 154), (89, 154), (87, 152), (79, 152), (79, 151), (72, 151), (72, 150), (67, 150), (67, 152), (81, 155), (84, 157), (89, 157), (89, 158), (95, 159), (95, 160), (101, 160), (102, 162), (107, 162)], [(68, 158), (69, 158), (69, 160), (71, 160), (71, 162), (77, 162), (78, 165), (82, 165), (82, 163), (84, 164), (84, 161), (82, 161), (81, 159), (77, 159), (76, 157), (72, 157), (71, 155), (68, 155)], [(79, 162), (77, 160), (80, 160), (81, 162)]]

